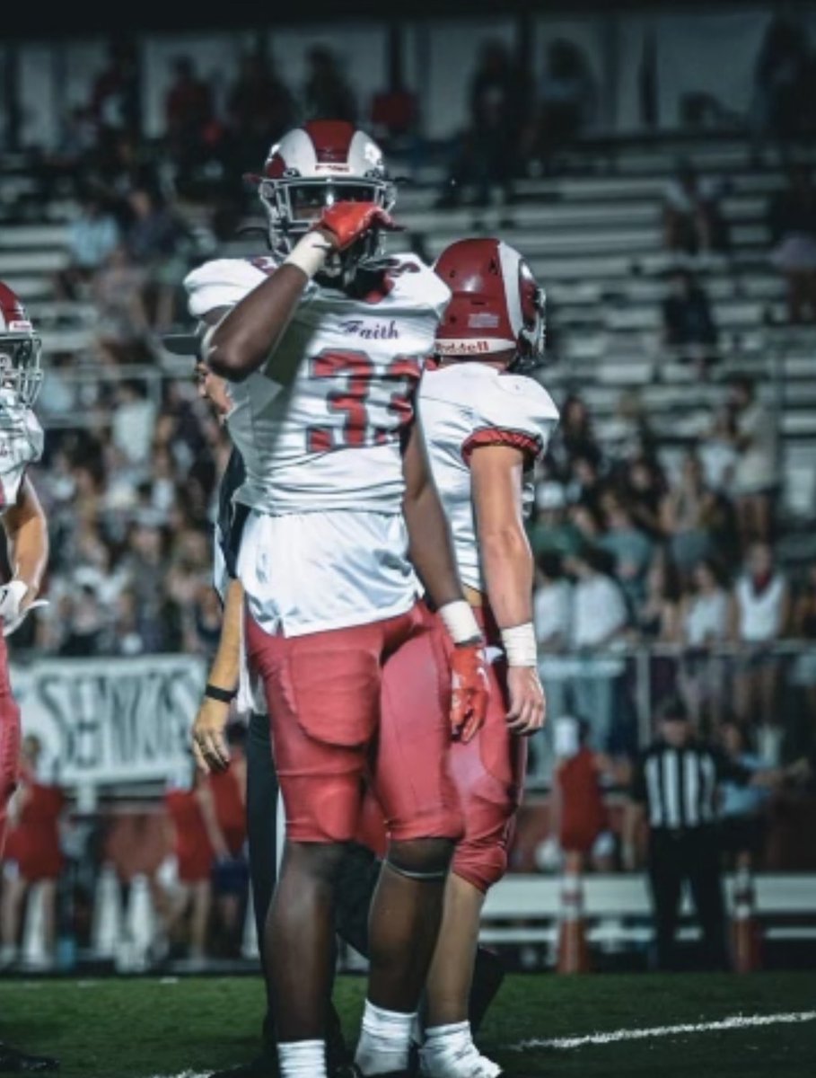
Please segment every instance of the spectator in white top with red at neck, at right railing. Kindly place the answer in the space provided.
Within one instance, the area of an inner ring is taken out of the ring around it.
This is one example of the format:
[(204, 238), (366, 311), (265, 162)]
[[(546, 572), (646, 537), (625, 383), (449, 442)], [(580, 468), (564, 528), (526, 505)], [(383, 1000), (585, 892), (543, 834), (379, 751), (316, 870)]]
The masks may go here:
[(787, 580), (768, 543), (755, 542), (750, 547), (733, 597), (731, 637), (741, 646), (734, 711), (743, 723), (768, 728), (765, 736), (775, 743), (768, 755), (777, 760), (779, 659), (773, 647), (788, 630), (790, 609)]

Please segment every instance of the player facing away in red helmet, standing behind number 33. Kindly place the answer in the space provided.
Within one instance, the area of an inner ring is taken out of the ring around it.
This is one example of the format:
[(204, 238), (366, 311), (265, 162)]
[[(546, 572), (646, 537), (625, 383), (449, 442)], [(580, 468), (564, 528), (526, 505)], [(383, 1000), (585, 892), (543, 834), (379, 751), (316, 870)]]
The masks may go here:
[(465, 834), (453, 856), (427, 980), (420, 1058), (430, 1078), (493, 1078), (500, 1067), (472, 1040), (468, 995), (484, 895), (507, 866), (524, 735), (545, 719), (522, 510), (530, 469), (558, 411), (527, 376), (544, 358), (544, 293), (518, 251), (496, 239), (464, 239), (448, 247), (435, 268), (453, 299), (437, 331), (438, 365), (420, 389), (420, 417), (459, 571), (498, 658), (484, 724), (451, 748)]

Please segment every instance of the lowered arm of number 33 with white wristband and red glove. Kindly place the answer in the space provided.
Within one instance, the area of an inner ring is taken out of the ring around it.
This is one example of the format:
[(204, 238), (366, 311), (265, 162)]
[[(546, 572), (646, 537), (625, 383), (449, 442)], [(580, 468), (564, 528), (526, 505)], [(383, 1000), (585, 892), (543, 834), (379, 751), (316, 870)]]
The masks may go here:
[(484, 722), (488, 677), (481, 633), (464, 596), (448, 519), (436, 489), (419, 420), (403, 453), (408, 556), (456, 645), (451, 659), (454, 736), (470, 741)]

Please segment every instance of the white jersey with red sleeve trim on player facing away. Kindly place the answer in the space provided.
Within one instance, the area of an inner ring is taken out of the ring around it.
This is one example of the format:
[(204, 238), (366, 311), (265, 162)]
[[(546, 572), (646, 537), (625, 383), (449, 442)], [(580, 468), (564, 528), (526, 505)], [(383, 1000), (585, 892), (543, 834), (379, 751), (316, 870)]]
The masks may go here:
[(532, 465), (545, 452), (558, 409), (534, 378), (488, 363), (456, 362), (428, 371), (420, 418), (431, 467), (450, 521), (464, 583), (484, 591), (470, 492), (470, 454), (479, 445), (512, 445)]

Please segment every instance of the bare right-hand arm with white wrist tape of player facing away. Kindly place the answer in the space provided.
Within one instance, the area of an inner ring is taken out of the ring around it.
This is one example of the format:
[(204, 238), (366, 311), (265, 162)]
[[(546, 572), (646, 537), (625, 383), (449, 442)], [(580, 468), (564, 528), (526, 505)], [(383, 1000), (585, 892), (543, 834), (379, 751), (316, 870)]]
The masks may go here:
[(533, 633), (533, 553), (522, 523), (524, 456), (509, 445), (484, 445), (470, 460), (476, 530), (488, 599), (505, 640), (507, 724), (540, 730), (546, 716)]

